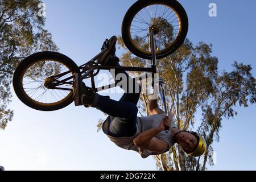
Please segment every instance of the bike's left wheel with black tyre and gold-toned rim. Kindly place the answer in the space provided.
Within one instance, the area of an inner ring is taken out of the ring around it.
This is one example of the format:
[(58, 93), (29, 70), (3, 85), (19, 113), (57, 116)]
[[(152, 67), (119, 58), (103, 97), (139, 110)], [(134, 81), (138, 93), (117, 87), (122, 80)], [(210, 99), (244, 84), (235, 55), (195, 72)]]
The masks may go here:
[[(73, 102), (72, 82), (75, 72), (80, 73), (76, 63), (61, 53), (35, 53), (20, 62), (16, 68), (13, 77), (14, 91), (20, 101), (33, 109), (62, 109)], [(47, 82), (51, 82), (51, 77), (55, 75), (60, 75), (54, 79), (55, 83), (60, 84), (54, 89), (47, 88)]]

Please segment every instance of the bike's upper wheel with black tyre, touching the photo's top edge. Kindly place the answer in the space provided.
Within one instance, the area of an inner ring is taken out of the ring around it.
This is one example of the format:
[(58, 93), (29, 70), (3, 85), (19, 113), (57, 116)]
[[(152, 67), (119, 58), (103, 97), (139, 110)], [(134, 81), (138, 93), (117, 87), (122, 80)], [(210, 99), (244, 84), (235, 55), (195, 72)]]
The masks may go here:
[(157, 27), (156, 59), (174, 53), (188, 32), (188, 16), (175, 0), (139, 0), (127, 11), (122, 23), (126, 47), (143, 59), (152, 59), (148, 28)]

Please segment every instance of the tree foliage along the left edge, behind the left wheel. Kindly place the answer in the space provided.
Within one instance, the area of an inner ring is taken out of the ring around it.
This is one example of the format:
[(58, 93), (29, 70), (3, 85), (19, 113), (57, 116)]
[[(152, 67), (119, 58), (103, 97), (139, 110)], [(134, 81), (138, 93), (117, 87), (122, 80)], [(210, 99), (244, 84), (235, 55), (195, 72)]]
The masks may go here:
[(57, 51), (52, 35), (38, 16), (39, 0), (0, 0), (0, 128), (13, 118), (11, 78), (18, 63), (35, 52)]

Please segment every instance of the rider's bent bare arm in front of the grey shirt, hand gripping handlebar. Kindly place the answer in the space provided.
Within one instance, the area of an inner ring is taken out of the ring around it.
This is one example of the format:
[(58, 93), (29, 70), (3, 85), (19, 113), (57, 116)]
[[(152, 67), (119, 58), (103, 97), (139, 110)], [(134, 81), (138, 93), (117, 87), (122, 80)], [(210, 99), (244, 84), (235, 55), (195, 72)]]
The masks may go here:
[(168, 143), (155, 137), (160, 131), (164, 130), (164, 126), (171, 127), (171, 122), (167, 118), (163, 118), (158, 127), (143, 131), (134, 140), (135, 146), (146, 150), (162, 153), (167, 150)]

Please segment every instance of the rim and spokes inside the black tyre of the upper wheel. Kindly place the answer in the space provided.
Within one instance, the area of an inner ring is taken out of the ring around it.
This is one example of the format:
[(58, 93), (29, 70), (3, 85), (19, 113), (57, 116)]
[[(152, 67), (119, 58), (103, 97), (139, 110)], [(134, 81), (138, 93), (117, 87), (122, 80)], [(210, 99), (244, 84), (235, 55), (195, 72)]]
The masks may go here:
[(180, 36), (181, 18), (171, 6), (163, 3), (145, 5), (134, 13), (129, 23), (131, 43), (144, 54), (151, 54), (148, 28), (153, 25), (159, 29), (154, 36), (156, 55), (170, 51)]

